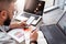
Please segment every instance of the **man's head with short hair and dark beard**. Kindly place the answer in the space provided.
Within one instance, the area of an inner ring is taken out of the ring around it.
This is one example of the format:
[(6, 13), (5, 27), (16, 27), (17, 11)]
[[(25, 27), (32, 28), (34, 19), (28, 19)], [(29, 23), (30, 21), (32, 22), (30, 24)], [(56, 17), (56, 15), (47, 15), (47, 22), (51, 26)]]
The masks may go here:
[(0, 0), (0, 23), (9, 24), (13, 16), (15, 0)]

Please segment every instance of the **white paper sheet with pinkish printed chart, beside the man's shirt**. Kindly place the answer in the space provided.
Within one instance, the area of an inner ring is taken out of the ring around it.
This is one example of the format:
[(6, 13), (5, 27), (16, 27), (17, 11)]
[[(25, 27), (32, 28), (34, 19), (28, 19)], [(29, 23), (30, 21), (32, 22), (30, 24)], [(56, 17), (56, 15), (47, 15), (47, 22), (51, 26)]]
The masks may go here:
[(24, 31), (22, 29), (14, 29), (9, 31), (8, 34), (19, 43), (24, 41)]

